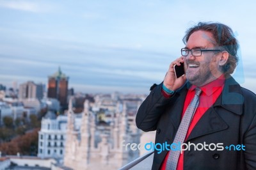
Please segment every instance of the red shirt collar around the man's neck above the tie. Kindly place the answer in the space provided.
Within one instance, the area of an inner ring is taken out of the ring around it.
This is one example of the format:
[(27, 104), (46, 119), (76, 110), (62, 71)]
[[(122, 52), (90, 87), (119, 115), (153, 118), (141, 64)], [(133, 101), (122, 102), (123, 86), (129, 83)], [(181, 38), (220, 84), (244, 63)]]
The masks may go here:
[[(223, 74), (220, 77), (218, 77), (218, 79), (200, 87), (200, 89), (202, 89), (202, 92), (205, 93), (207, 96), (211, 96), (217, 89), (223, 88), (224, 83), (225, 83), (225, 75)], [(189, 88), (189, 91), (193, 91), (195, 88), (196, 86), (192, 85)]]

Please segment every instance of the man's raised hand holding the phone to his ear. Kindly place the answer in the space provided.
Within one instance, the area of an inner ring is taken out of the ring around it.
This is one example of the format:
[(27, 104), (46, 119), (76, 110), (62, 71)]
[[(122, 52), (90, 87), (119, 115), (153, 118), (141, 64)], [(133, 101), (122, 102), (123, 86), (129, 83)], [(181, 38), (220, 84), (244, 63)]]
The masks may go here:
[(184, 63), (184, 57), (177, 58), (175, 61), (173, 61), (164, 77), (164, 86), (172, 91), (179, 89), (186, 82), (185, 75), (180, 76), (178, 79), (175, 77), (173, 66), (180, 66), (180, 63)]

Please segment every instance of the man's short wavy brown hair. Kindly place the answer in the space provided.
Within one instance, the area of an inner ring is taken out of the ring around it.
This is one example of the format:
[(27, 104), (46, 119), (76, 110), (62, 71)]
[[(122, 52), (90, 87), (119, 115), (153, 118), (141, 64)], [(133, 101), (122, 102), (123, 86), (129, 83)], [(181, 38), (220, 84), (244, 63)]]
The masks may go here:
[(228, 74), (233, 73), (238, 63), (237, 50), (239, 48), (239, 43), (234, 36), (232, 29), (219, 22), (198, 22), (198, 24), (190, 27), (186, 31), (186, 35), (182, 39), (183, 42), (186, 44), (188, 42), (189, 36), (191, 36), (191, 34), (195, 31), (200, 30), (212, 33), (216, 45), (221, 47), (223, 50), (227, 50), (229, 54), (228, 61), (225, 66), (223, 66), (222, 71)]

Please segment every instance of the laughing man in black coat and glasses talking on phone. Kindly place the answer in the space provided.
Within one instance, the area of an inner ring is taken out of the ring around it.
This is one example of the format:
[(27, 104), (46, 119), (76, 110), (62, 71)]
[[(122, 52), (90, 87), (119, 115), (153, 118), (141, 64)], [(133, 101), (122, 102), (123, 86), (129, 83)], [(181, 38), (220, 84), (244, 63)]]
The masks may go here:
[[(166, 146), (155, 149), (152, 169), (256, 169), (256, 96), (230, 75), (239, 47), (232, 29), (199, 22), (183, 41), (182, 56), (136, 116), (137, 127), (156, 130), (155, 144)], [(180, 63), (185, 74), (176, 78)]]

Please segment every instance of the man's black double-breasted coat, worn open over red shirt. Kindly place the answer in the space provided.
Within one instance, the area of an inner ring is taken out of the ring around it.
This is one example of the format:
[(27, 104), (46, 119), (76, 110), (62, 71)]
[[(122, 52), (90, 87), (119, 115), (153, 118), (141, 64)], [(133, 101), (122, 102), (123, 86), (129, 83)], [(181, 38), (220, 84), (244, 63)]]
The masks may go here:
[[(179, 128), (189, 83), (171, 98), (163, 97), (161, 86), (152, 89), (141, 104), (136, 125), (146, 132), (156, 130), (155, 143), (171, 144)], [(184, 143), (188, 142), (223, 143), (223, 147), (243, 144), (245, 151), (186, 150), (184, 169), (256, 169), (256, 95), (241, 88), (232, 77), (226, 79), (220, 97), (195, 125)], [(152, 169), (161, 167), (166, 153), (157, 154), (155, 150)]]

